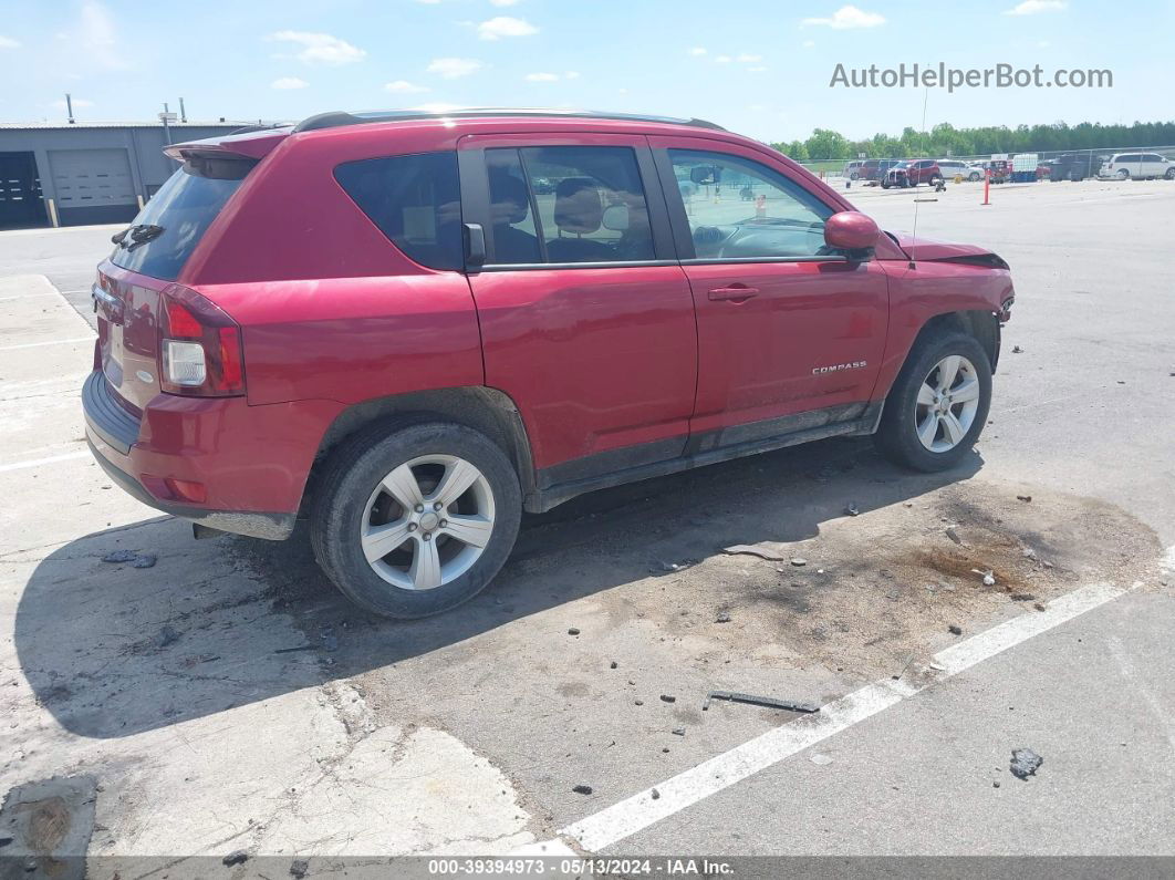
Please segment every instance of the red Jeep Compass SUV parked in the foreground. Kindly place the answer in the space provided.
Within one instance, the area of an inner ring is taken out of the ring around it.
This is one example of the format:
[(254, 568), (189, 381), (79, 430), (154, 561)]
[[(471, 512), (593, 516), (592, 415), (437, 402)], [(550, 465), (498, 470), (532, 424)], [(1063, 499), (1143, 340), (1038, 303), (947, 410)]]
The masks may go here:
[(329, 113), (167, 153), (94, 286), (93, 452), (197, 533), (308, 518), (381, 614), (474, 596), (523, 510), (834, 435), (940, 470), (986, 422), (1007, 264), (714, 125)]

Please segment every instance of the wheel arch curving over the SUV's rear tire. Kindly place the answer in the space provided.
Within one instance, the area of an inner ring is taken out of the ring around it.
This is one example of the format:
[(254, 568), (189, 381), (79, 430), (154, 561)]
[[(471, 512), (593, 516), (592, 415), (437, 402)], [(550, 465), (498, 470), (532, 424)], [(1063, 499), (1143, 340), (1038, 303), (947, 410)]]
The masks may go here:
[(302, 496), (303, 511), (314, 497), (316, 477), (322, 472), (323, 464), (341, 443), (380, 422), (389, 422), (390, 428), (392, 422), (405, 417), (452, 422), (489, 437), (513, 464), (522, 488), (523, 505), (528, 510), (531, 508), (536, 489), (535, 464), (530, 438), (518, 407), (509, 395), (496, 388), (474, 385), (377, 397), (340, 412), (318, 444)]

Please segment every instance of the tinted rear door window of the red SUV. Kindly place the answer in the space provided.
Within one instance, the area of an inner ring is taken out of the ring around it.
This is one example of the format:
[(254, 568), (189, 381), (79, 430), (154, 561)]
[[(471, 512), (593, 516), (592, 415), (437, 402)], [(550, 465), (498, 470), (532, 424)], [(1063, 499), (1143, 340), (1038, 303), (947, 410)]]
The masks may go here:
[(627, 147), (485, 150), (490, 263), (652, 260), (649, 206)]

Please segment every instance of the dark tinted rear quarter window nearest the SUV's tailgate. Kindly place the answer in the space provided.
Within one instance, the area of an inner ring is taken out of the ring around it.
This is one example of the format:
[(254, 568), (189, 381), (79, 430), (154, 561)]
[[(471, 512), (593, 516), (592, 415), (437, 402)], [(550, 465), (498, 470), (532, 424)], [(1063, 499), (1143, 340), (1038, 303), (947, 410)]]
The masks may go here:
[(418, 153), (335, 168), (347, 195), (411, 260), (461, 269), (461, 189), (456, 153)]

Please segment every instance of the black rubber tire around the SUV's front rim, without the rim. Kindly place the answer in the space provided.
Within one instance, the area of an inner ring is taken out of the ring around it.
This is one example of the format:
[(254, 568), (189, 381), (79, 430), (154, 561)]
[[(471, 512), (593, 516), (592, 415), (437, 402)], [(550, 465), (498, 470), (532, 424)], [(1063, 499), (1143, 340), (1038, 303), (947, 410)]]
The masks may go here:
[[(918, 438), (918, 391), (935, 364), (949, 355), (962, 355), (974, 364), (979, 381), (979, 407), (964, 438), (948, 451), (933, 452)], [(914, 344), (889, 389), (873, 441), (881, 454), (895, 464), (926, 472), (947, 470), (956, 465), (974, 446), (987, 424), (991, 405), (992, 363), (975, 337), (956, 331), (927, 335)]]

